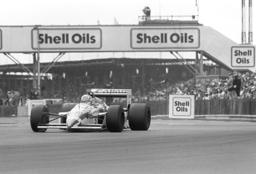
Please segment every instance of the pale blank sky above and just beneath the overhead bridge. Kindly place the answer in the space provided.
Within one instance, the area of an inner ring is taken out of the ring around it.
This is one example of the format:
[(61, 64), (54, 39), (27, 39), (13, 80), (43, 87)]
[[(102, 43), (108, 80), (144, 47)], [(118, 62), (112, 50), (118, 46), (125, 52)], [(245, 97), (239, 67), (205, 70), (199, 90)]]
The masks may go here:
[[(245, 0), (246, 9), (248, 1)], [(137, 25), (142, 9), (149, 6), (151, 16), (199, 15), (198, 21), (210, 26), (236, 43), (241, 43), (241, 0), (4, 0), (1, 2), (0, 26), (8, 25)], [(253, 9), (255, 9), (255, 4)], [(198, 7), (198, 9), (197, 9)], [(253, 18), (256, 19), (253, 11)], [(254, 20), (255, 21), (255, 20)], [(253, 41), (256, 30), (253, 23)], [(248, 32), (248, 31), (247, 31)], [(247, 33), (246, 33), (247, 34)], [(247, 36), (247, 35), (246, 35)], [(21, 63), (33, 63), (31, 55), (12, 54)], [(45, 53), (41, 62), (51, 62), (58, 54)], [(141, 57), (145, 53), (69, 53), (59, 61), (85, 60), (87, 58)], [(185, 56), (187, 55), (182, 54)], [(148, 57), (169, 58), (169, 52), (151, 52)], [(0, 64), (12, 64), (0, 54)]]

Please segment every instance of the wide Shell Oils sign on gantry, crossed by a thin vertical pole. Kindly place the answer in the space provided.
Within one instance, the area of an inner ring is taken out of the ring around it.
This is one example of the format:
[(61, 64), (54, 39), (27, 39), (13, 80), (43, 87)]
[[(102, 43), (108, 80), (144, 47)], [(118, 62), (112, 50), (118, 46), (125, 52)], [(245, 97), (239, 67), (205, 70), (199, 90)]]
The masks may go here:
[(102, 32), (98, 28), (33, 29), (32, 48), (38, 49), (100, 49)]

